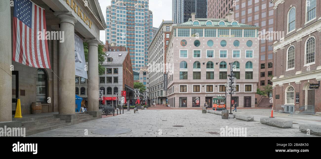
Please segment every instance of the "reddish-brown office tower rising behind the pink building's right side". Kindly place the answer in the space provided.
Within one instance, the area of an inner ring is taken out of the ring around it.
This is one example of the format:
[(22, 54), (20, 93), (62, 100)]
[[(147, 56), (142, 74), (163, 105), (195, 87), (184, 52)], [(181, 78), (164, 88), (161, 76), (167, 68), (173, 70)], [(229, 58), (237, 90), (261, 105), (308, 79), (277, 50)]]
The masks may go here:
[[(273, 3), (270, 0), (209, 0), (208, 1), (208, 17), (224, 18), (229, 9), (235, 12), (235, 20), (242, 24), (255, 25), (261, 27), (260, 31), (265, 33), (273, 31)], [(260, 71), (258, 88), (263, 90), (267, 84), (271, 84), (273, 71), (273, 39), (260, 40)], [(268, 94), (272, 95), (272, 91)]]

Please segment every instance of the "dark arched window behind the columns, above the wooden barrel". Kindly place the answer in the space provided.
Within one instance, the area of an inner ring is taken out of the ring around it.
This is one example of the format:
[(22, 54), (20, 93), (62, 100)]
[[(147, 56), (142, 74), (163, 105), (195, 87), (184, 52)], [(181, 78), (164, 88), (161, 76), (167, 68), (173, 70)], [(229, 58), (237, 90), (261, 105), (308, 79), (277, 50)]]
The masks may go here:
[(37, 78), (37, 92), (36, 92), (36, 100), (37, 102), (47, 103), (47, 73), (44, 69), (39, 68), (37, 70), (38, 78)]

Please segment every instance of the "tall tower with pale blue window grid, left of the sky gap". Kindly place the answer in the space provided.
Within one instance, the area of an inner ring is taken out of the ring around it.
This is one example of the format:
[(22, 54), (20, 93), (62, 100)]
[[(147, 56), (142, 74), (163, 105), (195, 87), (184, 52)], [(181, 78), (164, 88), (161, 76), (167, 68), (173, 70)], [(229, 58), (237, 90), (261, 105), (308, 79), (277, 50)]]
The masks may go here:
[(130, 49), (136, 72), (148, 65), (147, 48), (153, 38), (153, 14), (148, 8), (149, 0), (111, 0), (106, 7), (106, 41)]

